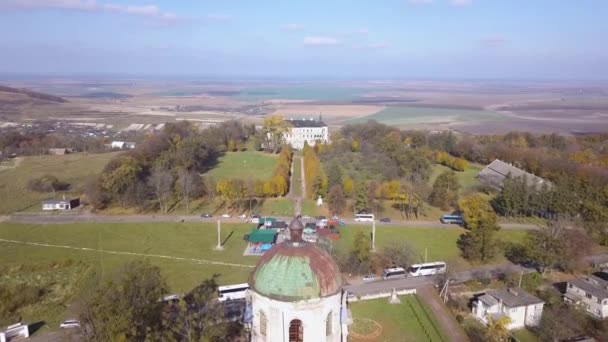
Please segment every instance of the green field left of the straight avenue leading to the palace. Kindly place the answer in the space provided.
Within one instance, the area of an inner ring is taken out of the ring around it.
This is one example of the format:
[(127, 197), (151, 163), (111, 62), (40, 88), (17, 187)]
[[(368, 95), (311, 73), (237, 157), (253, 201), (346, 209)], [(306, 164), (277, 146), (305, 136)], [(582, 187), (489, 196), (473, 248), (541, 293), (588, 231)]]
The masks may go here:
[(226, 178), (269, 179), (277, 163), (275, 155), (257, 151), (228, 152), (207, 172), (215, 180)]

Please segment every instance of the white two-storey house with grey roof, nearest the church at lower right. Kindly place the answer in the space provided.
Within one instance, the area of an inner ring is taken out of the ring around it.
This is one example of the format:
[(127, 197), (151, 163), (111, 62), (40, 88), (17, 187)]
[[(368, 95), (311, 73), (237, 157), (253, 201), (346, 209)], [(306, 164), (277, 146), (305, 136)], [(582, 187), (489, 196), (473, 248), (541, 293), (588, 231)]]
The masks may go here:
[(483, 324), (488, 324), (488, 317), (494, 319), (509, 317), (511, 322), (507, 329), (521, 329), (540, 324), (544, 302), (522, 288), (489, 291), (473, 302), (473, 315)]

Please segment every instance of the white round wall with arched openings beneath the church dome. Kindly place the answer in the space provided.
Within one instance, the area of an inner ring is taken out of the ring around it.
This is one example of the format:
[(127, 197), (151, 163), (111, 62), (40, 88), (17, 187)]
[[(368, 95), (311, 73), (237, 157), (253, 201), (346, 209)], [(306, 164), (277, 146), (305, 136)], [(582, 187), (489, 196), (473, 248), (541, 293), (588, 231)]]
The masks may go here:
[[(340, 308), (342, 294), (298, 302), (281, 302), (251, 291), (252, 342), (289, 341), (289, 323), (302, 321), (304, 342), (341, 341)], [(261, 313), (266, 316), (266, 335), (260, 329)], [(326, 334), (326, 319), (331, 313), (331, 334)]]

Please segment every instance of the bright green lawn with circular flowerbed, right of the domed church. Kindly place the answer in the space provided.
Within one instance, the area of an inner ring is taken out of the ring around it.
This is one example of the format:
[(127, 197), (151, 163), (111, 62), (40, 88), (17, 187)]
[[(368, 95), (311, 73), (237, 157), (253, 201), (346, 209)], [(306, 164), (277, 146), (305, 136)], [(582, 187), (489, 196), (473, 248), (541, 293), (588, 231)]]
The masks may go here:
[[(354, 324), (349, 340), (356, 341), (449, 341), (449, 337), (429, 309), (416, 295), (399, 297), (400, 304), (388, 304), (387, 298), (349, 304)], [(369, 324), (371, 321), (378, 325)], [(380, 335), (371, 337), (381, 327)], [(368, 335), (367, 338), (363, 336)]]

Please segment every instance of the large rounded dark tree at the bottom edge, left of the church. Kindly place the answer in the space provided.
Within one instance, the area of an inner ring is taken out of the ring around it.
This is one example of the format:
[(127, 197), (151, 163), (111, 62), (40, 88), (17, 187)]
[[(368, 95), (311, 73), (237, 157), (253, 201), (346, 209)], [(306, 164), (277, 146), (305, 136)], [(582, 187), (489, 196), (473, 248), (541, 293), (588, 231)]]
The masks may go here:
[(85, 301), (82, 333), (93, 341), (145, 341), (162, 333), (167, 285), (157, 266), (132, 261)]

